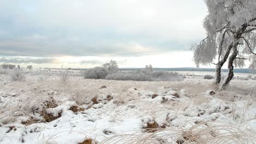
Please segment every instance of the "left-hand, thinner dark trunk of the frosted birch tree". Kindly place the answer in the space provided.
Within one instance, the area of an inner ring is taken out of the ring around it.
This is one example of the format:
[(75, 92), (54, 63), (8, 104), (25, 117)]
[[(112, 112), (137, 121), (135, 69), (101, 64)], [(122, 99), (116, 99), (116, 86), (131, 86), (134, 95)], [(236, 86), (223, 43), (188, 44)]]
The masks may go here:
[(224, 57), (219, 61), (219, 63), (216, 65), (216, 79), (215, 83), (218, 84), (221, 81), (221, 71), (222, 71), (222, 66), (226, 62), (226, 60), (229, 57), (230, 50), (233, 47), (233, 43), (229, 44), (228, 49), (226, 49)]

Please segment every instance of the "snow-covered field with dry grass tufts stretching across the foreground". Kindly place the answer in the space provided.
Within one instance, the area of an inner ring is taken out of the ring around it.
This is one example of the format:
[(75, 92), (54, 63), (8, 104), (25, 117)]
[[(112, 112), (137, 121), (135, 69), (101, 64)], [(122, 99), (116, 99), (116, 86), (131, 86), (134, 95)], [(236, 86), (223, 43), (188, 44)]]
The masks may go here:
[(256, 80), (215, 91), (202, 77), (62, 84), (54, 74), (0, 74), (0, 143), (256, 143)]

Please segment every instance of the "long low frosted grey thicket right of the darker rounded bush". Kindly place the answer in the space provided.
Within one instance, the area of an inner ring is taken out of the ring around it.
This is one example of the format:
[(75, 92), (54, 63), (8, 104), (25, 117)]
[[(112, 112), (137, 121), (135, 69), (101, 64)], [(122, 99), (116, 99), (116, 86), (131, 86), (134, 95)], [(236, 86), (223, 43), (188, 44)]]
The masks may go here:
[(146, 69), (130, 72), (109, 74), (107, 80), (132, 80), (132, 81), (181, 81), (182, 76), (172, 71), (149, 71)]

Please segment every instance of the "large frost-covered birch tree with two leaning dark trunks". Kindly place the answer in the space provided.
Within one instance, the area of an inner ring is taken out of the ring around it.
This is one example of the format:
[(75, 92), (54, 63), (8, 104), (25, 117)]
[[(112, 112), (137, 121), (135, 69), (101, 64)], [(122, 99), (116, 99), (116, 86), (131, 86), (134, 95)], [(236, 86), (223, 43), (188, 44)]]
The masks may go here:
[(228, 61), (228, 76), (220, 89), (226, 89), (234, 76), (234, 67), (256, 69), (256, 1), (255, 0), (205, 0), (208, 14), (203, 21), (207, 37), (193, 45), (194, 62), (216, 64), (216, 84), (221, 81), (221, 69)]

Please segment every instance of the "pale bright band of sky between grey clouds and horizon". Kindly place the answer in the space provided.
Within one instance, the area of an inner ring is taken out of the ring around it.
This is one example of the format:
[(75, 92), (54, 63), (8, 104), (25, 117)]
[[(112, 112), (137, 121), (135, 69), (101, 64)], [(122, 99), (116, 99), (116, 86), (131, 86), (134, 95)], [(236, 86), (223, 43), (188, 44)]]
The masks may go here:
[(158, 68), (191, 67), (193, 53), (191, 51), (159, 53), (140, 57), (98, 57), (98, 56), (61, 56), (61, 57), (4, 57), (0, 63), (14, 63), (26, 67), (32, 64), (34, 68), (93, 68), (109, 62), (110, 59), (118, 62), (120, 68), (143, 68), (152, 64)]

